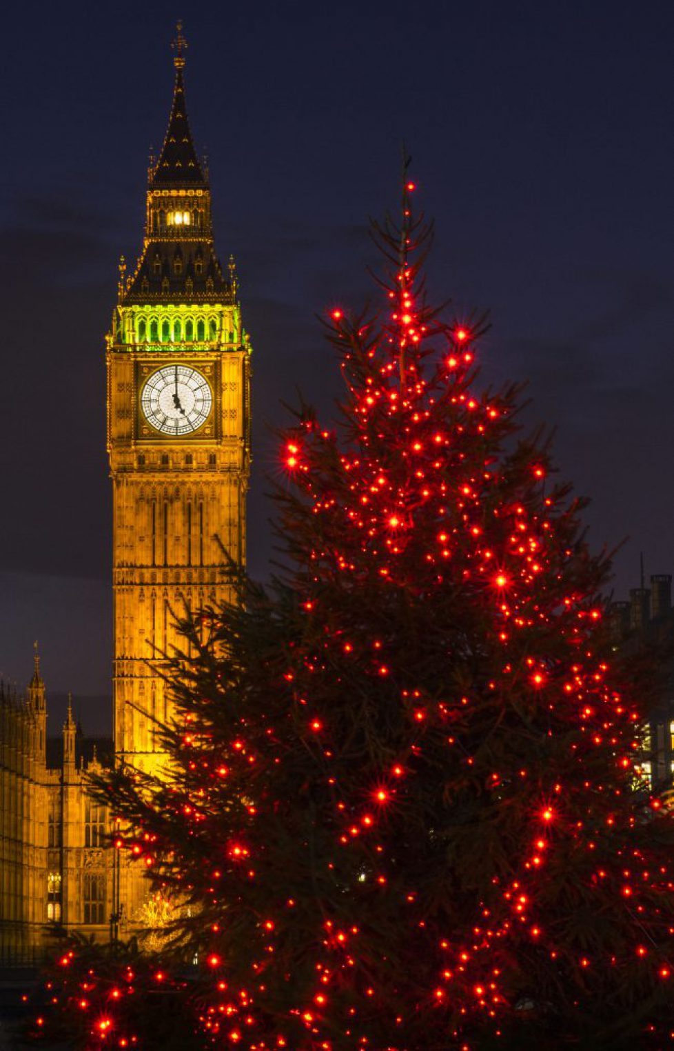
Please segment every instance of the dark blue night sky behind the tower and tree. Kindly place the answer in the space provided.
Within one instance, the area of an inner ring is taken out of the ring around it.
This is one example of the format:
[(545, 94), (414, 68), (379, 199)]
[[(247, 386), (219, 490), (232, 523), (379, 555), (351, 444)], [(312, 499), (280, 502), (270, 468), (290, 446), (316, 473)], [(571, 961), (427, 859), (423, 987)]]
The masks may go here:
[(434, 296), (490, 311), (483, 379), (525, 418), (615, 596), (674, 570), (674, 7), (613, 3), (23, 2), (3, 14), (0, 671), (40, 640), (50, 731), (71, 689), (110, 725), (111, 493), (104, 333), (143, 234), (183, 16), (216, 248), (254, 347), (249, 564), (268, 573), (270, 425), (340, 392), (316, 320), (376, 291), (367, 217), (398, 203), (400, 143), (435, 215)]

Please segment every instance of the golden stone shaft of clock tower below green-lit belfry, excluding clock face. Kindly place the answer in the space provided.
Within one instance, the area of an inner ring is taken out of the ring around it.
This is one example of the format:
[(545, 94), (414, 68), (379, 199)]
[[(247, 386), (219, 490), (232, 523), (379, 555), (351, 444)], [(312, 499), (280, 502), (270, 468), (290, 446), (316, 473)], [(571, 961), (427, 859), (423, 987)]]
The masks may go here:
[[(229, 305), (209, 308), (218, 309), (238, 314)], [(173, 614), (185, 603), (197, 610), (231, 597), (223, 548), (245, 564), (249, 354), (245, 334), (238, 346), (171, 343), (154, 352), (110, 337), (114, 742), (120, 759), (144, 769), (162, 765), (154, 720), (171, 715), (164, 683), (147, 662), (180, 645)], [(180, 438), (157, 433), (141, 408), (148, 377), (175, 364), (189, 364), (212, 391), (206, 423)]]

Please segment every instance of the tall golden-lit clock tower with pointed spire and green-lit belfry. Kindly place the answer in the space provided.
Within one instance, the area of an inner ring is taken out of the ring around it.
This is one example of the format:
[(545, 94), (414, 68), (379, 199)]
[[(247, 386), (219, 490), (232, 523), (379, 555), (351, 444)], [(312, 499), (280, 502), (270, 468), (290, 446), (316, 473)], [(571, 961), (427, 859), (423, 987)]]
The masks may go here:
[[(143, 250), (121, 268), (107, 336), (113, 489), (113, 707), (118, 758), (163, 765), (170, 713), (147, 661), (170, 652), (172, 610), (230, 597), (223, 554), (246, 557), (250, 354), (233, 261), (213, 247), (208, 172), (185, 108), (185, 40), (166, 139), (148, 174)], [(222, 544), (222, 547), (220, 547)]]

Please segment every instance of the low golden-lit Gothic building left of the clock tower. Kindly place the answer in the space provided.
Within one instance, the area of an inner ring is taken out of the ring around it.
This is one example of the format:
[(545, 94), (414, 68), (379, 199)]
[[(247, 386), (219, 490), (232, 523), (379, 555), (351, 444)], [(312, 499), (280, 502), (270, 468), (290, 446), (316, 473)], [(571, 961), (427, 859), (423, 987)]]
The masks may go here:
[(25, 696), (0, 686), (0, 964), (39, 960), (57, 928), (96, 935), (109, 921), (106, 815), (84, 781), (112, 742), (85, 740), (70, 702), (60, 737), (46, 722), (36, 645)]

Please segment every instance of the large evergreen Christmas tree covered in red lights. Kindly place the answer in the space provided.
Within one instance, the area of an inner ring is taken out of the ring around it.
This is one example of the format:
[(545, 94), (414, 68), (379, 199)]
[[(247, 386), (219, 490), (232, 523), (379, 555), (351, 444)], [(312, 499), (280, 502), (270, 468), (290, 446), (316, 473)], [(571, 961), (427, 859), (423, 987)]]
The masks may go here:
[(337, 430), (302, 405), (281, 436), (288, 568), (184, 619), (171, 780), (98, 790), (183, 905), (206, 1045), (659, 1048), (653, 676), (611, 654), (609, 560), (519, 389), (479, 388), (484, 323), (427, 303), (413, 190), (374, 226), (382, 310), (328, 324)]

